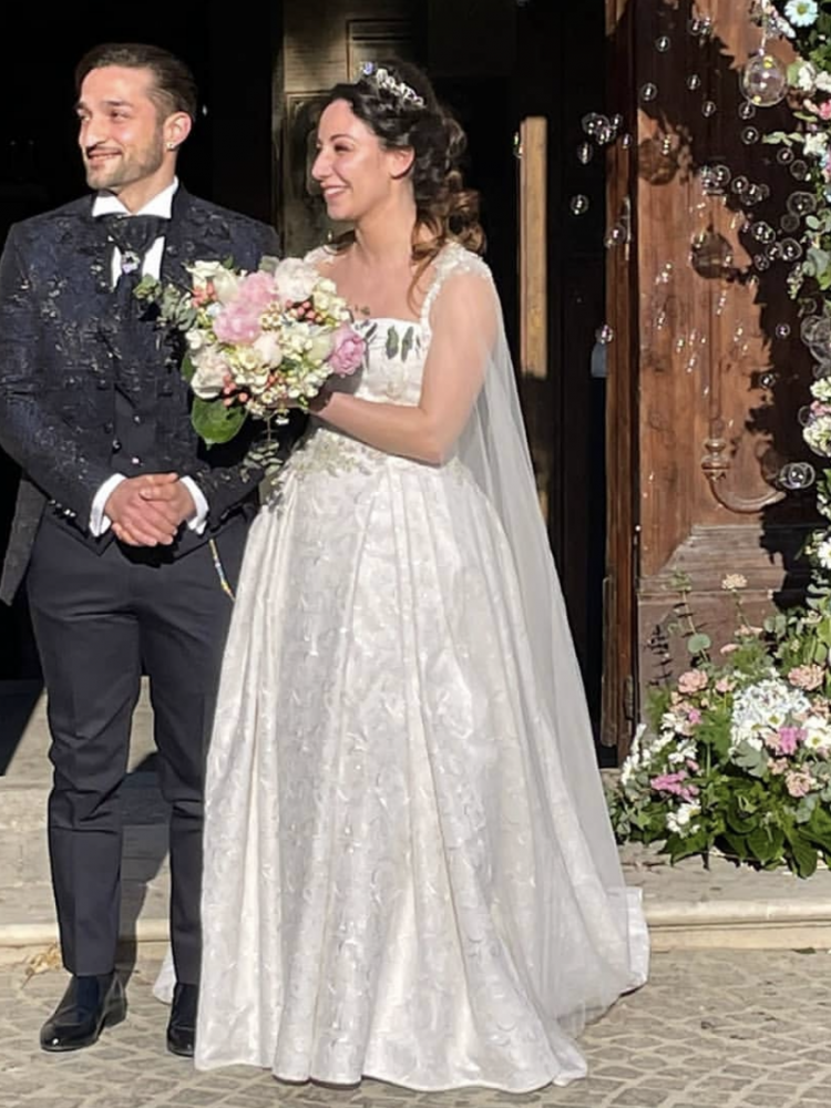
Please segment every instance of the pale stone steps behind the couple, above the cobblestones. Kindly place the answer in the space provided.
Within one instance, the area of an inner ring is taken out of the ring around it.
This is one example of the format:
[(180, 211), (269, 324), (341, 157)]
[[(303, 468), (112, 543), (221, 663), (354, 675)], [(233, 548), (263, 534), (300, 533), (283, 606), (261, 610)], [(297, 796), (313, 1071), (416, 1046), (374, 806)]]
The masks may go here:
[[(161, 953), (167, 940), (166, 806), (154, 770), (146, 688), (136, 707), (125, 812), (123, 941)], [(45, 835), (49, 793), (45, 697), (35, 683), (0, 683), (0, 963), (53, 950), (57, 925)], [(831, 872), (807, 881), (714, 858), (669, 865), (656, 850), (620, 850), (643, 890), (656, 951), (701, 947), (831, 950)]]

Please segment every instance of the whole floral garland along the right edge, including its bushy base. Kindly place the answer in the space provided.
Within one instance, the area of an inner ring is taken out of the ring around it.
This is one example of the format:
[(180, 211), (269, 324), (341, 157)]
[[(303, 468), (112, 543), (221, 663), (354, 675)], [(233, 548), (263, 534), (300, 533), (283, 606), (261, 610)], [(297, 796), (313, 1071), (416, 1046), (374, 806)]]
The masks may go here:
[[(794, 116), (793, 131), (766, 141), (781, 147), (778, 161), (797, 182), (782, 226), (801, 235), (791, 240), (788, 288), (815, 360), (803, 438), (831, 458), (831, 0), (752, 0), (751, 13), (762, 45), (746, 68), (745, 93), (757, 106), (788, 95)], [(773, 35), (794, 50), (787, 72), (766, 50)], [(803, 468), (813, 481), (813, 468)], [(831, 469), (817, 478), (817, 507), (831, 521)], [(830, 523), (814, 530), (803, 554), (806, 605), (762, 627), (745, 616), (745, 578), (724, 578), (737, 620), (717, 657), (689, 609), (691, 584), (676, 575), (673, 629), (690, 666), (653, 690), (647, 722), (609, 791), (619, 839), (661, 842), (673, 861), (718, 850), (758, 866), (787, 864), (800, 876), (820, 860), (831, 863)]]

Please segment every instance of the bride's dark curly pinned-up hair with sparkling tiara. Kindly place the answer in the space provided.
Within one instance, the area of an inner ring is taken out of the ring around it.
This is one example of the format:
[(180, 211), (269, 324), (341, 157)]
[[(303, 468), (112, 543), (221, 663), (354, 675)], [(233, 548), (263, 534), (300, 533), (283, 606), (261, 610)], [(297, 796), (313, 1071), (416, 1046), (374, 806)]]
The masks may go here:
[[(378, 79), (378, 71), (386, 76)], [(424, 73), (409, 62), (378, 63), (372, 74), (355, 83), (336, 84), (326, 104), (346, 100), (355, 115), (388, 150), (413, 151), (410, 177), (416, 197), (412, 258), (416, 279), (445, 243), (453, 240), (469, 250), (484, 249), (479, 223), (479, 194), (464, 185), (461, 161), (466, 137), (450, 112), (439, 103)], [(350, 234), (335, 248), (347, 246)]]

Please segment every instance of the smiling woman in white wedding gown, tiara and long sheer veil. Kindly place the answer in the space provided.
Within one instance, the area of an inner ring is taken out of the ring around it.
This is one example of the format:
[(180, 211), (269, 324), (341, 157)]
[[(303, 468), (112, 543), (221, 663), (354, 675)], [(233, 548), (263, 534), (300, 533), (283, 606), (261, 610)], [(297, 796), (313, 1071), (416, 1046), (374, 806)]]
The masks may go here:
[(646, 976), (458, 124), (409, 66), (329, 96), (355, 230), (311, 260), (359, 379), (248, 540), (206, 787), (199, 1069), (523, 1092)]

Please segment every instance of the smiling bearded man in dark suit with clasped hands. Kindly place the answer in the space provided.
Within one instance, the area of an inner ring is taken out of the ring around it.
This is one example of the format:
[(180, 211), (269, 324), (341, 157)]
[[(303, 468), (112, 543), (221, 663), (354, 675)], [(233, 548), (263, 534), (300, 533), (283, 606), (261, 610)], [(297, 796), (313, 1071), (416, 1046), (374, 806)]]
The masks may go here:
[[(93, 194), (12, 227), (0, 261), (0, 447), (21, 468), (0, 579), (25, 576), (49, 698), (49, 847), (69, 987), (41, 1032), (74, 1050), (126, 1014), (115, 973), (119, 789), (142, 673), (171, 806), (176, 989), (167, 1046), (193, 1054), (203, 767), (230, 593), (261, 473), (246, 443), (204, 449), (177, 339), (132, 295), (196, 259), (256, 268), (274, 232), (191, 196), (176, 157), (196, 113), (164, 50), (105, 44), (76, 70)], [(136, 233), (136, 234), (134, 234)]]

